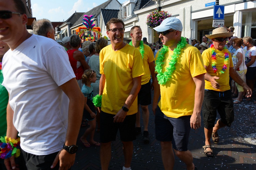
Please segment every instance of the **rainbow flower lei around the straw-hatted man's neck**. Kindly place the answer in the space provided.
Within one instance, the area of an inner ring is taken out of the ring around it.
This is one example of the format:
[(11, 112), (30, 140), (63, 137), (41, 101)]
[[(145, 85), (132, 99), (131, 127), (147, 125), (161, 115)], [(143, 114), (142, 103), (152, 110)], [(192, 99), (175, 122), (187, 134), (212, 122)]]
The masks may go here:
[[(211, 44), (211, 46), (210, 46), (210, 48), (211, 48), (211, 58), (212, 58), (212, 64), (211, 64), (211, 66), (212, 66), (212, 70), (217, 74), (217, 75), (220, 75), (220, 74), (224, 74), (225, 73), (225, 71), (227, 70), (227, 64), (229, 63), (229, 54), (228, 54), (228, 52), (227, 52), (227, 49), (226, 49), (226, 47), (224, 47), (224, 56), (223, 57), (225, 57), (225, 59), (224, 59), (224, 64), (223, 64), (223, 67), (222, 67), (222, 70), (220, 70), (219, 72), (217, 71), (217, 68), (216, 68), (216, 52), (215, 52), (215, 48), (214, 48), (214, 45), (213, 44)], [(218, 54), (217, 54), (218, 55)], [(218, 55), (219, 56), (219, 55)], [(221, 56), (219, 56), (219, 57), (221, 57)]]

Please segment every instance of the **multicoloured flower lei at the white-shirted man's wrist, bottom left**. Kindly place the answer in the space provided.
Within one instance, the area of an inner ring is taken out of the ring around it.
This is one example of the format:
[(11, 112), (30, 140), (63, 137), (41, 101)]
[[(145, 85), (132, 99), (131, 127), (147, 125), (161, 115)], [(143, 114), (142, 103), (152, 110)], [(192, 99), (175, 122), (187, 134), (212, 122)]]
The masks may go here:
[(7, 141), (7, 136), (0, 138), (0, 158), (7, 159), (15, 154), (17, 158), (20, 155), (20, 138), (12, 139), (9, 138)]

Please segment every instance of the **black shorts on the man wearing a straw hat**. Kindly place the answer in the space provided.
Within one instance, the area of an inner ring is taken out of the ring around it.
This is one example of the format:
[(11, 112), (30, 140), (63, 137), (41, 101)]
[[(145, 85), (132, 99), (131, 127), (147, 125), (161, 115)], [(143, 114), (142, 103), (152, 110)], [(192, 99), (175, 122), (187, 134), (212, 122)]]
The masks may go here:
[(231, 126), (234, 121), (233, 100), (231, 91), (215, 91), (205, 89), (203, 101), (203, 118), (206, 129), (213, 128), (217, 117), (217, 111), (222, 123)]

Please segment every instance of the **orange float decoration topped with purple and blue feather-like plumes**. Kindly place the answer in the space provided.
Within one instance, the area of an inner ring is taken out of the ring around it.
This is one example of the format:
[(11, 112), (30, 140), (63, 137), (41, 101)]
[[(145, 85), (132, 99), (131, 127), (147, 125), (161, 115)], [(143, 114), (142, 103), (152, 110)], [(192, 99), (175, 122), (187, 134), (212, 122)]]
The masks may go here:
[[(93, 18), (93, 15), (84, 15), (83, 25), (85, 25), (85, 27), (78, 27), (78, 29), (76, 30), (76, 34), (79, 35), (79, 37), (82, 39), (82, 42), (95, 41), (95, 37), (97, 36), (96, 33), (98, 33), (98, 39), (101, 37), (101, 29), (100, 27), (94, 27), (95, 24), (93, 23)], [(88, 37), (86, 37), (87, 33)]]

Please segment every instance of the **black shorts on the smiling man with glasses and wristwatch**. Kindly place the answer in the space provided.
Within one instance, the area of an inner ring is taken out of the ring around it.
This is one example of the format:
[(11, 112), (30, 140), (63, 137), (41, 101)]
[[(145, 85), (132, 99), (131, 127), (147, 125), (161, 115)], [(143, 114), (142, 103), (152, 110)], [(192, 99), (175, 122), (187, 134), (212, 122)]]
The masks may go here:
[(100, 141), (102, 143), (115, 141), (118, 129), (121, 141), (135, 140), (136, 114), (127, 115), (122, 123), (114, 123), (114, 116), (114, 114), (100, 112)]

